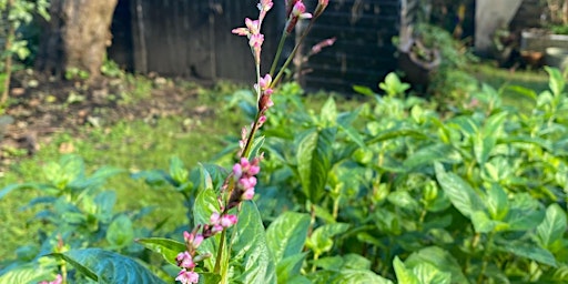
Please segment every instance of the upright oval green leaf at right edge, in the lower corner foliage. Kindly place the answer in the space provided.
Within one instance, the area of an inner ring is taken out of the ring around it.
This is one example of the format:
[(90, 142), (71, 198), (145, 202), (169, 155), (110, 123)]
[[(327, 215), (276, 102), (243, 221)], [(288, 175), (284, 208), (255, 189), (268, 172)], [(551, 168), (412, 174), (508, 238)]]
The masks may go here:
[(566, 213), (557, 203), (546, 210), (546, 217), (537, 226), (537, 237), (544, 247), (549, 248), (566, 233)]

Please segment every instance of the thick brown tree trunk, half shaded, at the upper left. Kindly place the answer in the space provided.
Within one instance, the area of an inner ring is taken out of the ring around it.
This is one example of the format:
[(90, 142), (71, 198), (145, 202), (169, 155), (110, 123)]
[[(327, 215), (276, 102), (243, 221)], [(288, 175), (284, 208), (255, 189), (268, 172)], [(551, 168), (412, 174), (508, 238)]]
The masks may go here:
[(61, 77), (71, 68), (100, 75), (118, 0), (52, 0), (41, 40), (38, 70)]

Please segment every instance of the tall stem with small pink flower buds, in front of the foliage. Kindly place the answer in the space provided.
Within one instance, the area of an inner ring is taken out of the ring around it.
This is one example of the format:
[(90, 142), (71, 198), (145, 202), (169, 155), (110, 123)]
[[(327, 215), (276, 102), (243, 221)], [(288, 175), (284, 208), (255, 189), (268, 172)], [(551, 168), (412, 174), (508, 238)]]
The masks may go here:
[[(257, 102), (256, 115), (250, 128), (242, 129), (242, 139), (239, 142), (239, 162), (234, 164), (232, 172), (226, 176), (217, 196), (220, 212), (213, 212), (207, 224), (197, 224), (191, 232), (185, 231), (183, 233), (186, 250), (180, 252), (175, 257), (178, 266), (181, 267), (181, 271), (175, 280), (181, 283), (199, 282), (200, 274), (195, 272), (195, 267), (200, 262), (211, 257), (212, 255), (211, 253), (200, 254), (197, 248), (204, 240), (210, 239), (216, 234), (221, 234), (221, 237), (219, 239), (216, 252), (217, 255), (215, 258), (213, 273), (221, 275), (227, 273), (222, 271), (222, 267), (226, 267), (227, 265), (221, 264), (223, 261), (229, 262), (229, 257), (222, 255), (224, 252), (223, 247), (225, 245), (231, 245), (230, 243), (227, 244), (226, 241), (229, 232), (227, 230), (239, 222), (241, 204), (244, 201), (251, 201), (253, 199), (254, 186), (256, 185), (255, 175), (258, 174), (261, 170), (260, 163), (263, 159), (263, 154), (256, 154), (252, 151), (253, 145), (255, 145), (256, 133), (266, 121), (268, 109), (274, 104), (271, 100), (271, 95), (273, 94), (276, 84), (278, 81), (281, 81), (285, 69), (292, 62), (292, 59), (297, 52), (298, 47), (310, 31), (313, 21), (317, 19), (327, 7), (328, 0), (320, 0), (313, 13), (306, 12), (306, 7), (302, 0), (286, 0), (287, 22), (284, 27), (271, 70), (268, 73), (262, 75), (261, 52), (262, 44), (264, 42), (264, 34), (261, 32), (261, 28), (266, 13), (271, 10), (273, 4), (274, 3), (272, 0), (261, 0), (257, 4), (260, 11), (258, 19), (252, 20), (246, 18), (245, 27), (236, 28), (232, 31), (234, 34), (243, 36), (248, 39), (248, 45), (251, 47), (251, 52), (254, 58), (256, 72), (256, 83), (254, 84)], [(302, 32), (300, 37), (301, 40), (296, 42), (294, 50), (280, 68), (280, 71), (275, 74), (277, 61), (285, 40), (294, 31), (298, 20), (302, 19), (311, 19), (310, 26)], [(321, 50), (321, 47), (318, 49)]]

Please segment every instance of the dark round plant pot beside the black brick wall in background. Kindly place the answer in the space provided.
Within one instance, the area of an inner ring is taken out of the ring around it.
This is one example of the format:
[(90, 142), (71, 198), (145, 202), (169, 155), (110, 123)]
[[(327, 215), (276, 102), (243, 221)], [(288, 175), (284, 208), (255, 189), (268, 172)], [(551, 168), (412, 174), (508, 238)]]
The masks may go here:
[(398, 68), (405, 73), (405, 79), (410, 84), (427, 87), (432, 72), (437, 70), (440, 64), (442, 57), (437, 49), (425, 49), (432, 60), (423, 60), (413, 51), (415, 44), (415, 40), (409, 40), (406, 45), (400, 47)]

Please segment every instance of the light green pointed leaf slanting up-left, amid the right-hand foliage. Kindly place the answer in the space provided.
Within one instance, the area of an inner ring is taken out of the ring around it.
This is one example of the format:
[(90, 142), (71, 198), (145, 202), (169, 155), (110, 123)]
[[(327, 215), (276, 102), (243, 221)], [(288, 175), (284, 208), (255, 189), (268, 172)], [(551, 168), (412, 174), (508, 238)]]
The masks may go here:
[(483, 202), (471, 186), (454, 173), (447, 173), (440, 163), (435, 163), (436, 178), (454, 206), (466, 217), (483, 210)]

